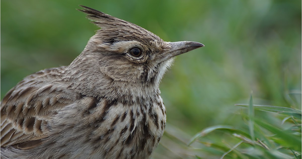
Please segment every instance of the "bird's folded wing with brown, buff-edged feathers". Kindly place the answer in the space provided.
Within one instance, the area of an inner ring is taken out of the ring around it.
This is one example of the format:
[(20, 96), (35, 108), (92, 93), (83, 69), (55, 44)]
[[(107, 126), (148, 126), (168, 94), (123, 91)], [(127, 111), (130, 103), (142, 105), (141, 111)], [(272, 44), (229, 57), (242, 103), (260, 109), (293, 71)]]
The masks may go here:
[(1, 147), (29, 149), (48, 137), (52, 115), (76, 98), (60, 78), (65, 68), (31, 74), (8, 91), (1, 101)]

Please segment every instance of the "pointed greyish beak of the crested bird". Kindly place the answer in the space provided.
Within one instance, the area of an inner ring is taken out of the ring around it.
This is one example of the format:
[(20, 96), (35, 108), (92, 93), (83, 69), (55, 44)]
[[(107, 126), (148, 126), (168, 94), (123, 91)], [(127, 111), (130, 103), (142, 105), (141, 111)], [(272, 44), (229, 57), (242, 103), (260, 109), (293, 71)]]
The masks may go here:
[(162, 61), (204, 46), (203, 44), (194, 41), (178, 41), (167, 43), (171, 45), (172, 49), (165, 53), (165, 58)]

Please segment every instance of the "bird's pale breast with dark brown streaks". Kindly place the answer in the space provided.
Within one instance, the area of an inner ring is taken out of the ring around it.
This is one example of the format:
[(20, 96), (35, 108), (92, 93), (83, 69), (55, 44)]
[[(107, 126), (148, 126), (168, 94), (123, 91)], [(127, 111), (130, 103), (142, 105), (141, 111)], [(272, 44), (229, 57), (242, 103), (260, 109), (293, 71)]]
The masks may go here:
[(83, 100), (84, 105), (78, 111), (85, 112), (85, 115), (66, 118), (71, 123), (74, 120), (79, 123), (66, 131), (73, 136), (65, 145), (81, 145), (76, 151), (78, 154), (72, 154), (72, 157), (146, 158), (158, 145), (166, 122), (160, 96), (144, 104), (92, 97)]

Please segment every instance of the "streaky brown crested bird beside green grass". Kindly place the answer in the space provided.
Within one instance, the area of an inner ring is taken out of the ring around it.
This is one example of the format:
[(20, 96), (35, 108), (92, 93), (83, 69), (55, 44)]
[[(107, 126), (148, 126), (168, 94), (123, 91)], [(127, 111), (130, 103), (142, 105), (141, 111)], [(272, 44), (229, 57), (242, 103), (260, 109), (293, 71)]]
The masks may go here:
[(166, 110), (159, 84), (175, 56), (203, 47), (166, 42), (80, 5), (99, 27), (68, 66), (25, 77), (1, 101), (1, 158), (148, 158)]

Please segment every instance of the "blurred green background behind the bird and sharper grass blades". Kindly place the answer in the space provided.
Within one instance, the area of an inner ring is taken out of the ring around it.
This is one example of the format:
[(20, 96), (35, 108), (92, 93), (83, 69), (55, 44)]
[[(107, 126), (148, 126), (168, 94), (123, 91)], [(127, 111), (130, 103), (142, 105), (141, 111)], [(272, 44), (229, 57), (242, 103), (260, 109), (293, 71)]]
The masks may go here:
[[(167, 128), (153, 158), (194, 156), (179, 142), (212, 125), (244, 128), (234, 104), (247, 104), (251, 91), (254, 104), (301, 109), (299, 0), (1, 1), (1, 99), (25, 76), (69, 65), (82, 52), (98, 28), (78, 5), (137, 24), (164, 41), (205, 45), (178, 56), (162, 79)], [(265, 112), (255, 116), (270, 118)], [(224, 139), (217, 132), (208, 140)]]

